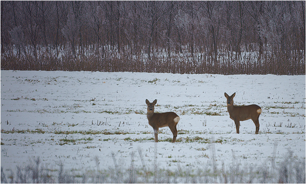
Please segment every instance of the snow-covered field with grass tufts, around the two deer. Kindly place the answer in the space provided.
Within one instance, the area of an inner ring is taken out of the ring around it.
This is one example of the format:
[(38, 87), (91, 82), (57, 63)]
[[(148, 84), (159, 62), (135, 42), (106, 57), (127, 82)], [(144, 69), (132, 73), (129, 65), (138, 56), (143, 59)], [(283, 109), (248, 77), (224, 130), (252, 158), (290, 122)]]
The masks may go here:
[[(234, 104), (259, 105), (236, 134), (224, 92)], [(305, 161), (305, 76), (1, 71), (1, 166), (15, 169), (40, 157), (73, 171), (154, 167), (155, 142), (145, 100), (155, 112), (180, 116), (177, 142), (159, 129), (157, 166), (192, 171)], [(114, 157), (112, 157), (114, 153)], [(115, 159), (114, 159), (115, 158)], [(274, 160), (275, 158), (275, 160)], [(272, 166), (271, 166), (272, 164)], [(277, 181), (272, 181), (277, 182)]]

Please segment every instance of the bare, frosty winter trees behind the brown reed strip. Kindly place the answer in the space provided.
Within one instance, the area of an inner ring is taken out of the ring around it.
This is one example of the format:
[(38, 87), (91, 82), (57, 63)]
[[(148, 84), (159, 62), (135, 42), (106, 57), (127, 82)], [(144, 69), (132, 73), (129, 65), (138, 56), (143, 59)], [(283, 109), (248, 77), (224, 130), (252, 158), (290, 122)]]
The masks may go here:
[(6, 64), (47, 54), (220, 65), (222, 58), (243, 60), (242, 53), (304, 66), (305, 1), (1, 1)]

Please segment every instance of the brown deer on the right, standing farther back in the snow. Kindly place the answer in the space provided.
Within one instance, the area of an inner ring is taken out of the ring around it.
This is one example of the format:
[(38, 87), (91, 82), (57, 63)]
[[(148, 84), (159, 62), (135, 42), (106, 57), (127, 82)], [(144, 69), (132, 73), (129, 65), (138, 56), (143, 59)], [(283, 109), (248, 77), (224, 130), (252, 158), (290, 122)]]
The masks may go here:
[(234, 106), (233, 98), (235, 97), (236, 93), (232, 96), (224, 93), (224, 96), (227, 99), (227, 111), (230, 114), (230, 118), (235, 121), (236, 131), (239, 134), (239, 126), (240, 121), (245, 121), (252, 119), (256, 126), (255, 134), (259, 132), (259, 115), (261, 114), (262, 110), (258, 105), (247, 105), (247, 106)]

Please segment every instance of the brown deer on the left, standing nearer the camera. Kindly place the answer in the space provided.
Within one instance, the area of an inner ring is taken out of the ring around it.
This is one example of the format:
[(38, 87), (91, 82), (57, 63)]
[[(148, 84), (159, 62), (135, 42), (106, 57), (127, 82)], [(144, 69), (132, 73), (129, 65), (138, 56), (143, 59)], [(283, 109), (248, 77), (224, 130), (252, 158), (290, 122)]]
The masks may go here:
[(177, 136), (176, 125), (178, 121), (180, 121), (180, 117), (174, 112), (154, 113), (154, 106), (157, 103), (157, 99), (155, 99), (152, 103), (146, 99), (146, 103), (148, 105), (147, 118), (149, 120), (149, 125), (151, 125), (151, 127), (154, 129), (155, 142), (158, 142), (158, 128), (168, 126), (173, 133), (172, 143), (174, 143)]

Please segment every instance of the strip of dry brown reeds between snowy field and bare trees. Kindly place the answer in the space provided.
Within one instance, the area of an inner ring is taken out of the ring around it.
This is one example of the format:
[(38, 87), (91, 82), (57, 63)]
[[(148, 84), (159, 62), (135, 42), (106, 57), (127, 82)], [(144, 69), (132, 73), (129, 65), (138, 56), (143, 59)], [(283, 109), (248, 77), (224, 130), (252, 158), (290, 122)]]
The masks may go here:
[(305, 75), (305, 56), (287, 53), (264, 53), (260, 57), (253, 53), (241, 58), (219, 54), (218, 58), (208, 56), (173, 55), (151, 57), (128, 53), (107, 53), (105, 55), (69, 54), (54, 57), (50, 53), (31, 55), (2, 55), (1, 70), (63, 70), (63, 71), (102, 71), (102, 72), (148, 72), (179, 74), (275, 74)]

